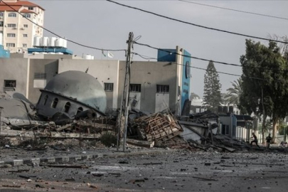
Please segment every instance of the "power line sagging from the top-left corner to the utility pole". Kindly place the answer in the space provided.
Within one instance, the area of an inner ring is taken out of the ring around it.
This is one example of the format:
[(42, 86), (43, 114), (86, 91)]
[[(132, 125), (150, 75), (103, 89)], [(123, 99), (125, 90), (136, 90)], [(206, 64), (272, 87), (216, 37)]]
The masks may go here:
[[(11, 8), (12, 10), (16, 11), (18, 14), (20, 14), (21, 16), (23, 16), (23, 14), (21, 14), (20, 12), (18, 12), (16, 9), (14, 9), (13, 6), (10, 6), (9, 4), (6, 4), (6, 2), (4, 1), (0, 1), (2, 2), (3, 4), (5, 4), (6, 6), (9, 6), (9, 8)], [(24, 18), (26, 18), (28, 21), (30, 21), (31, 23), (35, 24), (36, 26), (40, 27), (40, 28), (43, 28), (45, 31), (48, 31), (49, 33), (53, 34), (54, 36), (58, 36), (59, 38), (63, 38), (62, 36), (59, 36), (57, 33), (54, 33), (53, 31), (50, 31), (48, 28), (45, 28), (43, 26), (40, 26), (38, 25), (38, 23), (35, 23), (34, 21), (32, 21), (31, 19), (27, 18), (26, 16), (23, 16)], [(125, 51), (125, 49), (103, 49), (103, 48), (95, 48), (95, 47), (92, 47), (92, 46), (86, 46), (82, 43), (78, 43), (76, 41), (73, 41), (73, 40), (70, 40), (68, 38), (65, 38), (65, 40), (69, 41), (70, 43), (74, 43), (78, 46), (82, 46), (82, 47), (85, 47), (85, 48), (91, 48), (91, 49), (95, 49), (95, 50), (107, 50), (107, 51)]]

